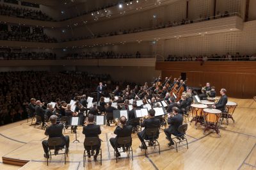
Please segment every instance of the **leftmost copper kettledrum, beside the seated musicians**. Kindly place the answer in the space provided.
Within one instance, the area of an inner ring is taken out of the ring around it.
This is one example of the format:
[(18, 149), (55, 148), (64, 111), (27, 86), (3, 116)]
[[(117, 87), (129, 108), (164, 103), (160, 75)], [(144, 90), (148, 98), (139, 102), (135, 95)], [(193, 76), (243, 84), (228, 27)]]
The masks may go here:
[(200, 123), (200, 125), (204, 124), (204, 116), (203, 116), (203, 109), (207, 108), (207, 105), (205, 104), (191, 104), (191, 112), (192, 112), (192, 121), (195, 121), (195, 128), (196, 124)]

